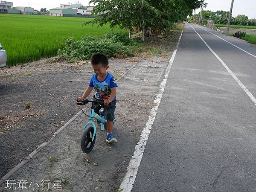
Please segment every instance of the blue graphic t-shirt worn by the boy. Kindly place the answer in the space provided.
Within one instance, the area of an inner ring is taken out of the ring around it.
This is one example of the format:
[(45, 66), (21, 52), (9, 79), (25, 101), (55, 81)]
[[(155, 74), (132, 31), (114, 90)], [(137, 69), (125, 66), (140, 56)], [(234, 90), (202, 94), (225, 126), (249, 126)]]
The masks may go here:
[[(94, 87), (96, 99), (109, 99), (111, 94), (111, 88), (117, 87), (116, 80), (108, 73), (107, 77), (103, 81), (98, 81), (97, 74), (94, 74), (89, 83), (90, 87)], [(116, 101), (116, 96), (113, 99)]]

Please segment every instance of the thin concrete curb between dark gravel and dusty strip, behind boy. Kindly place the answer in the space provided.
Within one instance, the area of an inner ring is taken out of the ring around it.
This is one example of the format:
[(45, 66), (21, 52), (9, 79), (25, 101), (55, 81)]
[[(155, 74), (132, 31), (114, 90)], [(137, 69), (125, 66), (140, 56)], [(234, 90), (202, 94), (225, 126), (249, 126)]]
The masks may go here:
[[(142, 59), (140, 59), (140, 61), (142, 61), (144, 59), (144, 57)], [(137, 64), (140, 63), (140, 61), (137, 61), (136, 64), (134, 64), (129, 70), (127, 70), (124, 74), (122, 74), (122, 76), (117, 79), (116, 81), (122, 79), (123, 76), (125, 76), (129, 71), (131, 71)], [(33, 156), (35, 154), (37, 154), (41, 148), (43, 148), (44, 146), (46, 146), (53, 138), (55, 138), (55, 136), (57, 134), (59, 134), (64, 128), (66, 128), (71, 122), (73, 122), (74, 119), (76, 119), (79, 115), (81, 115), (82, 111), (79, 111), (78, 113), (76, 113), (76, 115), (74, 115), (68, 122), (65, 123), (65, 125), (63, 125), (61, 128), (59, 128), (51, 137), (51, 139), (49, 139), (49, 141), (42, 143), (35, 151), (33, 151), (31, 154), (29, 154), (28, 157), (25, 158), (25, 160), (22, 160), (17, 166), (15, 166), (11, 171), (9, 171), (6, 175), (4, 175), (1, 179), (0, 179), (0, 185), (2, 185), (9, 177), (11, 177), (18, 169), (20, 169), (20, 167), (22, 167), (25, 163), (27, 163), (29, 160), (31, 160), (33, 158)]]

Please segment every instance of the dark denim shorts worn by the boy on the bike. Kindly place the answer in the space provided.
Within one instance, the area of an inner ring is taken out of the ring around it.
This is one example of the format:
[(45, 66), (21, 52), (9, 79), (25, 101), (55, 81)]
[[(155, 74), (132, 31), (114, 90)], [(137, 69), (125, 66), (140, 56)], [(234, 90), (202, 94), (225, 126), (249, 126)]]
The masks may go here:
[[(95, 96), (93, 96), (93, 101), (103, 101), (103, 100), (99, 100), (96, 99)], [(99, 110), (101, 109), (101, 106), (99, 103), (95, 103), (93, 104), (93, 106), (95, 107), (94, 112), (99, 114)], [(106, 105), (104, 107), (104, 118), (107, 119), (108, 121), (114, 121), (115, 119), (115, 109), (116, 109), (116, 101), (112, 101), (110, 102), (110, 104)]]

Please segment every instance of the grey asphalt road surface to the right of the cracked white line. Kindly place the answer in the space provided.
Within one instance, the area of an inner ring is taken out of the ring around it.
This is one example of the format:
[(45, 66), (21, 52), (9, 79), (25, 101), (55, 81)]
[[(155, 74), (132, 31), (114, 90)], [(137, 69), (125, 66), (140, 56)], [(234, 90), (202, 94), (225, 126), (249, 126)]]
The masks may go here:
[(245, 41), (185, 25), (133, 192), (256, 191), (256, 55)]

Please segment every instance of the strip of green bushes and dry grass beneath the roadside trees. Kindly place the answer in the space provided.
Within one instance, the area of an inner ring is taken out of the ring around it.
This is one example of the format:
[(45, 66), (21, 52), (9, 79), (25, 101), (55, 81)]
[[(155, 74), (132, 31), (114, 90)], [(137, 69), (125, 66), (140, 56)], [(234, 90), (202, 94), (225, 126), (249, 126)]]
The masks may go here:
[[(144, 42), (140, 40), (139, 33), (131, 32), (133, 38), (129, 38), (127, 31), (108, 32), (99, 36), (82, 37), (80, 40), (68, 38), (63, 49), (58, 50), (58, 55), (69, 62), (89, 60), (91, 55), (97, 52), (111, 57), (122, 58), (125, 56), (165, 55), (172, 47), (172, 41), (184, 24), (176, 24), (174, 29), (164, 35), (152, 35)], [(163, 46), (164, 45), (164, 46)]]

